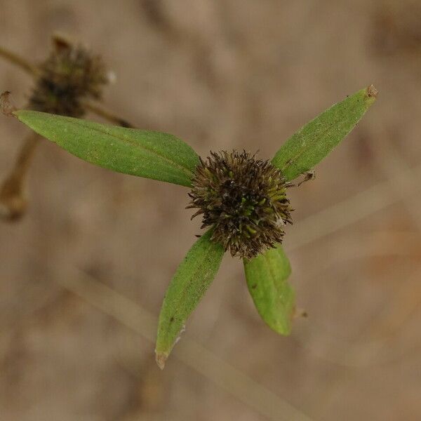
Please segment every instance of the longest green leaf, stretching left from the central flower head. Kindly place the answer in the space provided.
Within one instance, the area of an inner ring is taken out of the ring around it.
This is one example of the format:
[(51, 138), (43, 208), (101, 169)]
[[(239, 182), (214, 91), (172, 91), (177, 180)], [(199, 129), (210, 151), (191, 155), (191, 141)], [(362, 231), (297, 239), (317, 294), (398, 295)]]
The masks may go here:
[(189, 187), (199, 163), (199, 156), (189, 145), (167, 133), (27, 110), (14, 114), (71, 154), (119, 173)]

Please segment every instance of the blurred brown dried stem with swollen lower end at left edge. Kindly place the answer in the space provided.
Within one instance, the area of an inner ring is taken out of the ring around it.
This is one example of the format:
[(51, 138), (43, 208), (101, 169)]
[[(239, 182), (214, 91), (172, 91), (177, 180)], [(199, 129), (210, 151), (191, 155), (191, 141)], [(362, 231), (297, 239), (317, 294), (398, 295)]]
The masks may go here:
[(0, 218), (13, 221), (22, 218), (27, 208), (25, 183), (34, 158), (39, 135), (31, 133), (23, 143), (11, 173), (0, 187)]

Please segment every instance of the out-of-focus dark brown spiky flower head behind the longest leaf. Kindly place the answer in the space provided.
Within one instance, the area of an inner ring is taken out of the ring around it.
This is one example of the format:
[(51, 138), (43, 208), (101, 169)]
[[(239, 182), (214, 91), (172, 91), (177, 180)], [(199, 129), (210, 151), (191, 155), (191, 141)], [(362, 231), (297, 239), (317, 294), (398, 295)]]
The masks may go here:
[(53, 47), (39, 66), (28, 107), (65, 116), (83, 116), (83, 98), (100, 99), (102, 87), (108, 82), (102, 59), (59, 36), (53, 38)]

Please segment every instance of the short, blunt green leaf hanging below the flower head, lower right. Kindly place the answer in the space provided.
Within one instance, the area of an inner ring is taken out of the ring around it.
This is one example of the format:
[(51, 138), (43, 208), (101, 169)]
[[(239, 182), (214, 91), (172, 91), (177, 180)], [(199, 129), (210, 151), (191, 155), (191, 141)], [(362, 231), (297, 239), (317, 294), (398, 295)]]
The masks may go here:
[(291, 267), (282, 246), (245, 259), (244, 270), (248, 290), (262, 319), (275, 332), (289, 335), (295, 297), (287, 281)]

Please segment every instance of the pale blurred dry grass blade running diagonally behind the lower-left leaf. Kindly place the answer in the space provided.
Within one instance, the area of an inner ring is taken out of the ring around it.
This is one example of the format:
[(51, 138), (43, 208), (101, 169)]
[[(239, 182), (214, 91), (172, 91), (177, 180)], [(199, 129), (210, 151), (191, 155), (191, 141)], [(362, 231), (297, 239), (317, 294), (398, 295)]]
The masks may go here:
[[(116, 293), (79, 269), (60, 262), (55, 280), (67, 290), (79, 295), (89, 304), (114, 317), (121, 324), (154, 343), (157, 319), (135, 302)], [(63, 270), (65, 267), (65, 270)], [(66, 276), (60, 276), (66, 273)], [(272, 421), (310, 421), (311, 418), (291, 406), (279, 396), (259, 385), (248, 375), (223, 361), (199, 343), (185, 338), (173, 354), (186, 366), (196, 370)]]

